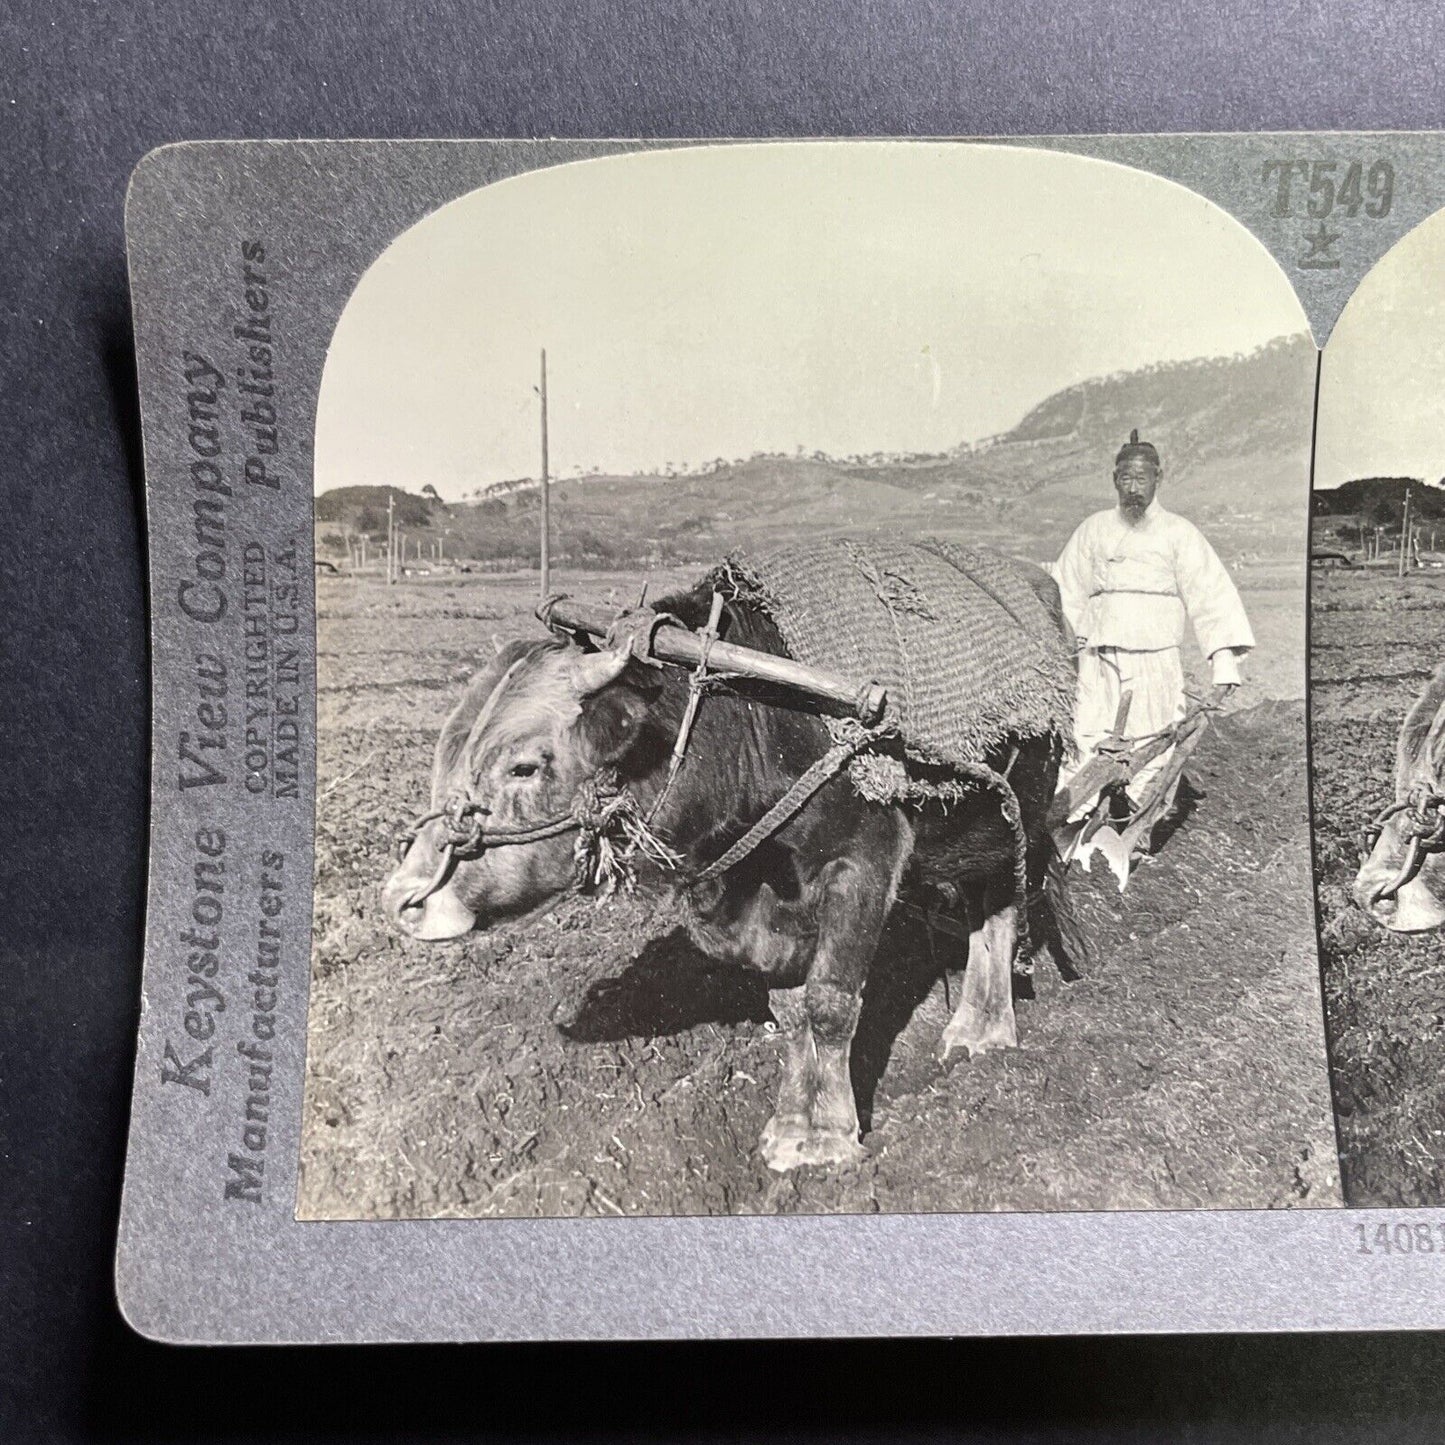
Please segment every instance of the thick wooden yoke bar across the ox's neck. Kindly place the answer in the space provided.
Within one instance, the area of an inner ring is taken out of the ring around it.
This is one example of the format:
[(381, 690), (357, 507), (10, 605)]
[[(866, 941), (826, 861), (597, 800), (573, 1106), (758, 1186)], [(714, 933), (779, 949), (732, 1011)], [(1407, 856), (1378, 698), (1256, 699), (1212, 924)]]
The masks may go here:
[[(558, 631), (587, 633), (605, 640), (613, 636), (620, 616), (598, 603), (585, 603), (572, 597), (549, 597), (538, 608), (538, 618)], [(656, 617), (656, 614), (650, 614)], [(629, 629), (637, 644), (644, 644), (642, 660), (672, 662), (683, 668), (695, 668), (707, 647), (708, 669), (731, 672), (759, 682), (772, 682), (783, 688), (803, 692), (819, 702), (828, 702), (835, 709), (855, 717), (864, 727), (871, 727), (883, 717), (887, 707), (887, 689), (876, 681), (850, 682), (818, 668), (805, 666), (792, 657), (779, 657), (754, 647), (738, 647), (734, 643), (714, 642), (708, 644), (698, 633), (688, 631), (675, 623), (659, 620), (647, 627)]]

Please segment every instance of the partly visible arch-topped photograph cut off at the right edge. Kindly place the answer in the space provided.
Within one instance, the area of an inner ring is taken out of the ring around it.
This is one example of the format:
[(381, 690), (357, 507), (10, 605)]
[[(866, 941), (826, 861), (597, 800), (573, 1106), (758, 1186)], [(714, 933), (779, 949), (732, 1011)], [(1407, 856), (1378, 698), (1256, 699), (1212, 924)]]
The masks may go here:
[(1445, 212), (1321, 363), (1311, 743), (1345, 1201), (1445, 1204)]

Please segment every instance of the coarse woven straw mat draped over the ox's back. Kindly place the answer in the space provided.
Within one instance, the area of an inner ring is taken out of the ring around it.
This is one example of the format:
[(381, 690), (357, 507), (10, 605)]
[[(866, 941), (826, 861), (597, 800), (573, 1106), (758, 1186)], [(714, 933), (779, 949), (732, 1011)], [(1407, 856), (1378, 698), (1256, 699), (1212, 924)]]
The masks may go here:
[(920, 762), (1071, 734), (1072, 653), (1032, 562), (932, 538), (829, 538), (740, 553), (711, 581), (766, 611), (799, 662), (881, 682), (884, 721)]

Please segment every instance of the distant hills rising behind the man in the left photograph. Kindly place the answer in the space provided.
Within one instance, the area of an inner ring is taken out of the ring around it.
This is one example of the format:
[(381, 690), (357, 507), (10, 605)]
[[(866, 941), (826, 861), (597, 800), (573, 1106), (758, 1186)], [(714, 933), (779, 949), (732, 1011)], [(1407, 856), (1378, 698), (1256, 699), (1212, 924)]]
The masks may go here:
[[(1280, 338), (1248, 355), (1169, 363), (1097, 377), (1035, 406), (1010, 431), (945, 455), (718, 460), (676, 475), (590, 475), (552, 487), (561, 565), (640, 568), (707, 562), (798, 533), (933, 532), (1042, 558), (1113, 501), (1114, 454), (1130, 428), (1159, 447), (1165, 503), (1228, 558), (1299, 556), (1309, 465), (1315, 351)], [(536, 556), (539, 493), (509, 481), (442, 504), (386, 487), (316, 499), (318, 539), (344, 555), (387, 493), (413, 509), (403, 526), (448, 556), (526, 565)], [(422, 509), (422, 510), (416, 510)], [(329, 525), (329, 526), (328, 526)]]

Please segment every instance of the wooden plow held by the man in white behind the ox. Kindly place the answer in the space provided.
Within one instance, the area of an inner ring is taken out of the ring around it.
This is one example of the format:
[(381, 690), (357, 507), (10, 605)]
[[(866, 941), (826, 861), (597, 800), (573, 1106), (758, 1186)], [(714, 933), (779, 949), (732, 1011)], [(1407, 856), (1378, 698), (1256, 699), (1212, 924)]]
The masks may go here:
[[(1118, 879), (1120, 892), (1129, 881), (1134, 855), (1147, 848), (1155, 825), (1169, 809), (1185, 763), (1199, 746), (1209, 718), (1218, 711), (1214, 702), (1195, 701), (1172, 727), (1155, 737), (1131, 741), (1124, 737), (1131, 702), (1131, 692), (1118, 699), (1113, 731), (1094, 749), (1068, 786), (1059, 790), (1048, 818), (1064, 861), (1087, 858), (1092, 851), (1103, 853)], [(1130, 782), (1170, 749), (1173, 754), (1150, 780), (1146, 795), (1137, 803), (1129, 802), (1124, 818), (1116, 818), (1116, 799), (1127, 799), (1124, 790)], [(1114, 822), (1123, 827), (1116, 829), (1111, 827)]]

